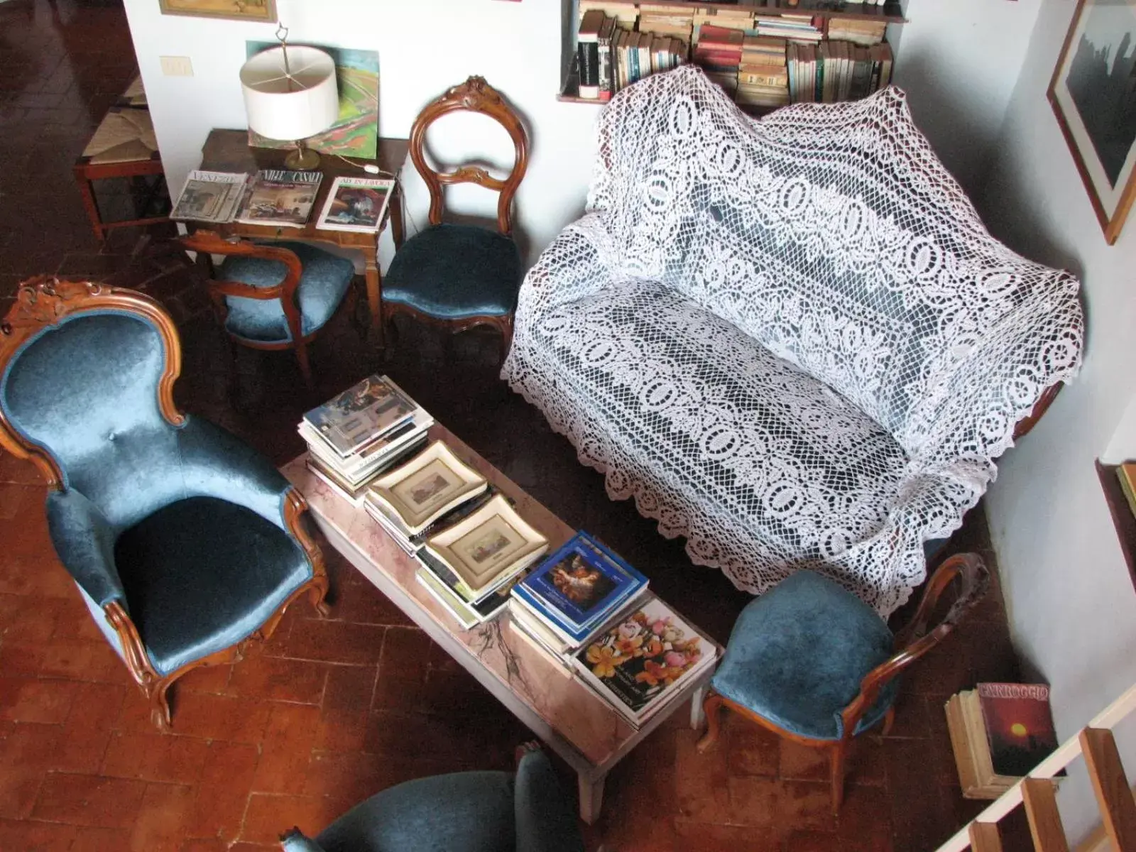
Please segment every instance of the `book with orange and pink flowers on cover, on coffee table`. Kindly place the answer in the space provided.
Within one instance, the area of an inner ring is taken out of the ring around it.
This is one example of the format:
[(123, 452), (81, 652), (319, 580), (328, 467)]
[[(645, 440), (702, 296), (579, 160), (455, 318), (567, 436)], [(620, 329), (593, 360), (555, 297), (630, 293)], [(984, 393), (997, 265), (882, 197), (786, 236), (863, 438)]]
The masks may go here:
[(576, 665), (613, 701), (642, 717), (715, 654), (713, 644), (653, 598), (584, 646)]

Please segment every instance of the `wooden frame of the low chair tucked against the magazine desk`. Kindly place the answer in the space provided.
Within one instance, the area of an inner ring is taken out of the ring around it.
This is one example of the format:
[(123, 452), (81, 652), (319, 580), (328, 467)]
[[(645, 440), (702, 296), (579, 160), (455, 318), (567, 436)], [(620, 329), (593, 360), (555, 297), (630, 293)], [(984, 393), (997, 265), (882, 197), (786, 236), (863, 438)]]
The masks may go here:
[[(204, 264), (209, 272), (209, 298), (212, 300), (214, 312), (222, 331), (226, 337), (242, 346), (250, 349), (262, 349), (279, 351), (283, 349), (294, 349), (295, 359), (300, 364), (300, 374), (303, 376), (308, 387), (312, 386), (311, 362), (308, 358), (308, 344), (314, 341), (319, 333), (326, 328), (326, 324), (316, 331), (304, 335), (303, 319), (300, 315), (300, 304), (296, 301), (296, 291), (300, 286), (300, 276), (303, 275), (303, 264), (294, 251), (282, 249), (275, 245), (264, 245), (240, 237), (223, 237), (215, 231), (201, 229), (181, 237), (182, 245), (187, 251), (195, 251), (199, 257), (209, 258), (210, 254), (241, 256), (258, 258), (260, 260), (277, 260), (287, 268), (284, 279), (273, 287), (254, 287), (239, 281), (219, 281), (212, 277), (212, 264)], [(228, 304), (225, 296), (234, 295), (242, 299), (256, 299), (257, 301), (279, 301), (284, 310), (284, 319), (287, 323), (291, 340), (286, 341), (256, 341), (233, 334), (225, 326), (228, 317)], [(354, 286), (348, 289), (346, 298), (337, 310), (348, 310), (352, 314), (358, 299), (358, 291)]]

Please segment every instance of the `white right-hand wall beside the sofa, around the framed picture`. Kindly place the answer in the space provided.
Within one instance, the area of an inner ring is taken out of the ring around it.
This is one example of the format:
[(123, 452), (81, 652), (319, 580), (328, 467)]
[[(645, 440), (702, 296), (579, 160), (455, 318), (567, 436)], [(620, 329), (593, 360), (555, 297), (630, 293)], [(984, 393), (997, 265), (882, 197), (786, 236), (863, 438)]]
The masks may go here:
[[(1076, 272), (1088, 333), (1080, 376), (1005, 454), (987, 498), (1016, 645), (1053, 686), (1058, 734), (1136, 682), (1136, 592), (1093, 461), (1136, 457), (1136, 220), (1104, 242), (1045, 98), (1075, 3), (1045, 0), (983, 199), (996, 236)], [(1136, 779), (1136, 749), (1125, 753)], [(1095, 809), (1070, 785), (1083, 824)]]

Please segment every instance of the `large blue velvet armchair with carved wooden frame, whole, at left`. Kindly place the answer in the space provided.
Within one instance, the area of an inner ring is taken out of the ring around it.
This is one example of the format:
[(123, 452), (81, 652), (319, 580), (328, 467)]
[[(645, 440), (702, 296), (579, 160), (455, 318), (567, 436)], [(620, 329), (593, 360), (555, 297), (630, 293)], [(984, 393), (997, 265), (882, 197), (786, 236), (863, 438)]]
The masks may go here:
[(174, 407), (181, 365), (170, 318), (130, 290), (34, 278), (0, 325), (0, 444), (47, 477), (59, 560), (162, 729), (181, 675), (327, 592), (303, 498)]

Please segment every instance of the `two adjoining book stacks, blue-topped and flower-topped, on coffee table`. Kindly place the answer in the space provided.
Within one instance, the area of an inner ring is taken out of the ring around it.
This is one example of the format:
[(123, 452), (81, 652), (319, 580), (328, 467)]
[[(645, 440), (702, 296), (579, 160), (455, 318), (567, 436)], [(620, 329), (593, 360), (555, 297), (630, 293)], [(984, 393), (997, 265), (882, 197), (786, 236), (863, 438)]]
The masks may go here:
[(713, 665), (717, 648), (648, 578), (580, 531), (512, 586), (517, 634), (563, 666), (633, 727)]

